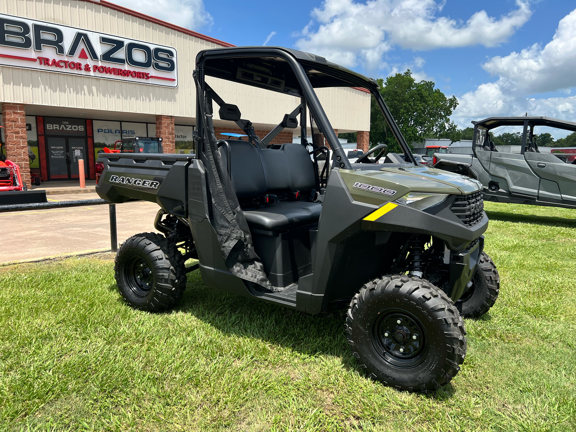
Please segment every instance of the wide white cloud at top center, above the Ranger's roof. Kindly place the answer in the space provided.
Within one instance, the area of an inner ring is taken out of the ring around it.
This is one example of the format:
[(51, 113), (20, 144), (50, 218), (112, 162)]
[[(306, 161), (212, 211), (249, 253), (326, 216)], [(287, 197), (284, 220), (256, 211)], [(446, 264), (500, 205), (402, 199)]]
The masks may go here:
[(319, 28), (312, 31), (310, 22), (297, 33), (295, 45), (345, 66), (362, 62), (374, 69), (395, 46), (425, 51), (505, 42), (532, 14), (526, 0), (516, 0), (516, 5), (498, 20), (482, 10), (464, 23), (437, 17), (443, 3), (434, 0), (325, 0), (312, 11)]

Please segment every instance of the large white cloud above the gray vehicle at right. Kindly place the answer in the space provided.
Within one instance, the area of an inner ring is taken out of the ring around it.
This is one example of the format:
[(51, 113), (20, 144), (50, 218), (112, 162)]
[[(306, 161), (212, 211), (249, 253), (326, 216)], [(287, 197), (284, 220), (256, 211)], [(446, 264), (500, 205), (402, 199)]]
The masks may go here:
[(562, 92), (576, 86), (576, 10), (558, 23), (552, 40), (544, 48), (535, 44), (520, 53), (496, 56), (482, 65), (495, 82), (458, 97), (453, 118), (461, 126), (471, 119), (495, 115), (550, 116), (575, 120), (576, 96), (528, 98), (530, 94)]

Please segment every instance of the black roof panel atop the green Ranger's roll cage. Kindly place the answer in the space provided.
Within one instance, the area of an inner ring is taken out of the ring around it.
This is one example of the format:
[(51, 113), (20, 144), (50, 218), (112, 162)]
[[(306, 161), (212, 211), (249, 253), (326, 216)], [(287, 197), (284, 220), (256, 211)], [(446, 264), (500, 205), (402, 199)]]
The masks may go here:
[(346, 67), (328, 62), (319, 55), (284, 47), (232, 47), (203, 50), (198, 53), (196, 63), (198, 64), (203, 53), (210, 54), (204, 60), (205, 75), (293, 96), (302, 96), (293, 70), (285, 59), (278, 56), (278, 51), (290, 54), (300, 63), (314, 88), (361, 87), (369, 90), (378, 88), (378, 83), (374, 78), (368, 78)]

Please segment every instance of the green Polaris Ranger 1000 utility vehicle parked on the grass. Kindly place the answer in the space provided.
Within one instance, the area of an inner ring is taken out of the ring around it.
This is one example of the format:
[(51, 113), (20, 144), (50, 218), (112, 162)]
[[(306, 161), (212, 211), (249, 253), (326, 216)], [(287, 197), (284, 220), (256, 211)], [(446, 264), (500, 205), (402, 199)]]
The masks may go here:
[[(163, 235), (137, 234), (118, 251), (127, 304), (172, 308), (187, 272), (199, 269), (211, 288), (287, 308), (347, 307), (351, 350), (386, 385), (427, 392), (449, 382), (466, 354), (462, 316), (486, 313), (499, 290), (483, 252), (482, 185), (417, 166), (377, 82), (322, 57), (281, 47), (205, 50), (194, 78), (196, 155), (98, 158), (101, 198), (161, 207), (155, 226)], [(242, 118), (249, 107), (211, 86), (223, 81), (291, 96), (294, 108), (258, 137)], [(388, 153), (378, 164), (350, 164), (314, 91), (329, 87), (370, 90), (404, 159)], [(218, 140), (215, 120), (248, 139)], [(271, 144), (285, 129), (300, 132), (300, 143)], [(186, 268), (189, 258), (199, 263)]]

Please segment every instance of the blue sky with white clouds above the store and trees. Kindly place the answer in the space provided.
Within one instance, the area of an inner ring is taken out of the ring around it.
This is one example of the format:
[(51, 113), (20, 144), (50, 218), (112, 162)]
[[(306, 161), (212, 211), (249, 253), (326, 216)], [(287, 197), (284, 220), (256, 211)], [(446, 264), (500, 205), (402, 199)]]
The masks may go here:
[(574, 0), (116, 2), (238, 46), (268, 40), (324, 55), (374, 78), (410, 68), (456, 95), (461, 127), (524, 112), (576, 117)]

